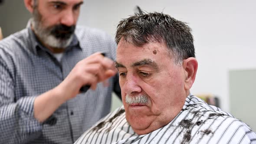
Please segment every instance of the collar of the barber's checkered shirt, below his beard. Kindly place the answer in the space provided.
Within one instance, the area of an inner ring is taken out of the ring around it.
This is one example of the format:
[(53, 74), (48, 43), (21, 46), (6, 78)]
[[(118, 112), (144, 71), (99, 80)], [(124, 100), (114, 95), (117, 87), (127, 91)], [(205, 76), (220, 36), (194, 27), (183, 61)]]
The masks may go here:
[[(46, 47), (44, 47), (40, 42), (39, 40), (36, 38), (36, 34), (33, 32), (33, 30), (31, 29), (31, 27), (28, 27), (28, 33), (29, 33), (29, 39), (30, 39), (30, 42), (31, 42), (31, 46), (30, 47), (30, 50), (34, 53), (34, 54), (38, 54), (38, 50), (44, 50), (44, 51), (49, 51), (49, 49), (46, 49)], [(69, 50), (69, 49), (72, 49), (72, 48), (79, 48), (79, 49), (82, 49), (80, 44), (79, 44), (79, 40), (77, 38), (77, 36), (74, 34), (73, 35), (73, 39), (70, 43), (70, 45), (66, 48), (66, 51)]]

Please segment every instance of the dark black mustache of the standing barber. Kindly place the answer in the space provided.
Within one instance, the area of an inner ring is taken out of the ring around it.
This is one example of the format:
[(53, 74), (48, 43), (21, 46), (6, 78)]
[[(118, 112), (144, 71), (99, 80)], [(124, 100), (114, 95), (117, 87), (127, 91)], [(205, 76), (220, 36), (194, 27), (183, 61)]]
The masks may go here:
[(75, 25), (66, 26), (63, 24), (56, 25), (52, 28), (51, 34), (57, 39), (69, 39), (75, 31)]

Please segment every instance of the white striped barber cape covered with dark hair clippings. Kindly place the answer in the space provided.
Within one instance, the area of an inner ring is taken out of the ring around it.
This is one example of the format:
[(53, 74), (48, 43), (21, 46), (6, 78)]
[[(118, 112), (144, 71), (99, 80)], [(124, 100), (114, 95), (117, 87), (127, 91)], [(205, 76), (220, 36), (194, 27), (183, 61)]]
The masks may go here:
[[(118, 112), (121, 115), (116, 117)], [(174, 120), (149, 134), (136, 134), (121, 107), (82, 134), (75, 144), (256, 144), (256, 134), (220, 108), (189, 95)]]

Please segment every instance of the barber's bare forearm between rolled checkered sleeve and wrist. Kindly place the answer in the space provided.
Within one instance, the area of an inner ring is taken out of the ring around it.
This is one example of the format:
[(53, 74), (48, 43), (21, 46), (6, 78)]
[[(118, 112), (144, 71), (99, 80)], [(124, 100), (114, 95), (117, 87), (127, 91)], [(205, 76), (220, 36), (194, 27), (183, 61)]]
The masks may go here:
[(34, 102), (34, 117), (40, 122), (46, 121), (66, 101), (64, 97), (57, 87), (39, 95)]

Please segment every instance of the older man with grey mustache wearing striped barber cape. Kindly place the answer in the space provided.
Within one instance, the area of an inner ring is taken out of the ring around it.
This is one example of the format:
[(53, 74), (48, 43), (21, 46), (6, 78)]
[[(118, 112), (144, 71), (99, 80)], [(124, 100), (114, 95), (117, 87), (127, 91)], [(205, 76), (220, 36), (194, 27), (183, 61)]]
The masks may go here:
[(116, 67), (124, 106), (75, 144), (256, 143), (245, 123), (190, 94), (197, 72), (190, 31), (163, 13), (122, 20)]

